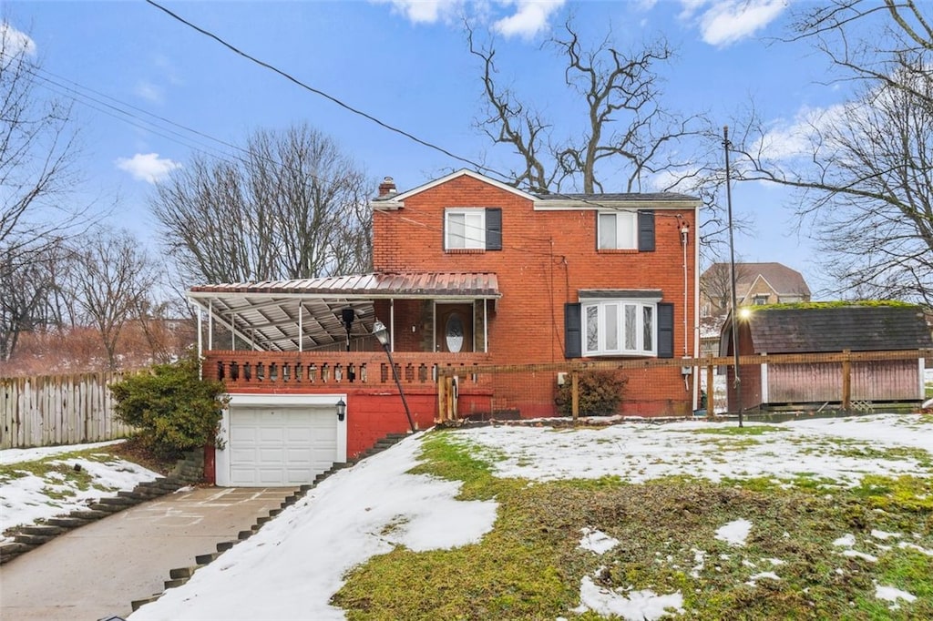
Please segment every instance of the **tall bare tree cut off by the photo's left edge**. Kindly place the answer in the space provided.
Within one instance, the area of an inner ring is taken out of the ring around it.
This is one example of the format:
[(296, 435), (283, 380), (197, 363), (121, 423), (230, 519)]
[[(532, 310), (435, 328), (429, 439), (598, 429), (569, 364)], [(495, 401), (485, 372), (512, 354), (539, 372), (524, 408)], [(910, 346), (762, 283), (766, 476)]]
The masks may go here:
[(0, 16), (0, 359), (21, 333), (63, 317), (55, 269), (63, 241), (88, 223), (73, 207), (71, 108), (37, 90), (35, 44)]

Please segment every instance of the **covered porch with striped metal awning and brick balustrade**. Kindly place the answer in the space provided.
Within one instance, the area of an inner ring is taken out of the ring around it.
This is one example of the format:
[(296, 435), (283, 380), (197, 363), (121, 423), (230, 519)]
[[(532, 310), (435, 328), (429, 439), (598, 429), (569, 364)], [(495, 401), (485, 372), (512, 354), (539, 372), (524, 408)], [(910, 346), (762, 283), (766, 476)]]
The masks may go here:
[[(230, 392), (393, 382), (427, 386), (438, 366), (489, 361), (495, 274), (369, 273), (192, 287), (204, 377)], [(388, 342), (373, 335), (385, 325)], [(383, 351), (383, 349), (385, 351)]]

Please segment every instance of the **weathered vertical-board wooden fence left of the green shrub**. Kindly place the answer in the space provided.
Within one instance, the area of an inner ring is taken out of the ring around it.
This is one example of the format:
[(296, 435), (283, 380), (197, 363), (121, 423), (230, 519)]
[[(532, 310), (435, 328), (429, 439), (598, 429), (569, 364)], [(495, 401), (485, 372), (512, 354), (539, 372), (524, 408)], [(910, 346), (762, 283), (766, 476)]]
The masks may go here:
[(0, 379), (0, 449), (23, 449), (126, 437), (107, 386), (122, 373)]

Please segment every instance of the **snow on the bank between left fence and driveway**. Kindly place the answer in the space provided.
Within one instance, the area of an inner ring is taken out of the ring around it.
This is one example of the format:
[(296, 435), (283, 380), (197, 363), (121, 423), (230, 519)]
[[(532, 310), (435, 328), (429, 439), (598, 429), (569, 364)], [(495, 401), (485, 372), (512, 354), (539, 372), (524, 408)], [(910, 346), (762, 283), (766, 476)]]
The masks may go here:
[[(44, 461), (62, 453), (97, 449), (121, 441), (68, 447), (0, 450), (0, 465)], [(0, 533), (13, 526), (34, 524), (42, 519), (85, 509), (97, 499), (116, 496), (119, 490), (132, 490), (139, 483), (159, 476), (135, 463), (116, 459), (106, 463), (87, 459), (51, 462), (66, 463), (72, 468), (80, 466), (91, 476), (91, 483), (87, 489), (81, 490), (74, 481), (64, 480), (64, 476), (58, 472), (50, 472), (47, 476), (35, 476), (25, 471), (19, 471), (23, 476), (0, 475)], [(0, 543), (8, 539), (0, 534)]]

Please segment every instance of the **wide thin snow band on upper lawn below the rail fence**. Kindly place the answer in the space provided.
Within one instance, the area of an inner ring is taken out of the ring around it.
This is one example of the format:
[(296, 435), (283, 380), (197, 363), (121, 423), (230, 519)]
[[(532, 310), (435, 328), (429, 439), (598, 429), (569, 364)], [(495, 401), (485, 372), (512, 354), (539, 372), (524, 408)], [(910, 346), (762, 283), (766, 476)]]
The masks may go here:
[[(693, 475), (718, 482), (724, 477), (788, 479), (800, 473), (857, 485), (866, 474), (912, 475), (910, 459), (871, 459), (852, 450), (913, 447), (933, 452), (933, 434), (915, 414), (877, 414), (846, 419), (812, 419), (780, 424), (747, 422), (769, 433), (745, 436), (741, 451), (730, 431), (734, 421), (704, 420), (651, 424), (626, 422), (606, 428), (550, 430), (484, 427), (465, 440), (494, 457), (497, 476), (538, 480), (620, 476), (632, 483), (661, 476)], [(832, 442), (845, 441), (843, 447)], [(724, 450), (724, 448), (727, 448)]]

